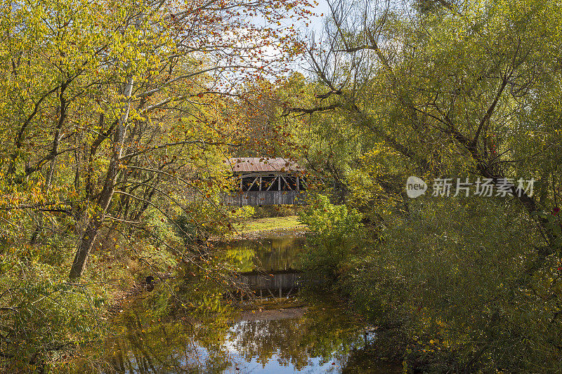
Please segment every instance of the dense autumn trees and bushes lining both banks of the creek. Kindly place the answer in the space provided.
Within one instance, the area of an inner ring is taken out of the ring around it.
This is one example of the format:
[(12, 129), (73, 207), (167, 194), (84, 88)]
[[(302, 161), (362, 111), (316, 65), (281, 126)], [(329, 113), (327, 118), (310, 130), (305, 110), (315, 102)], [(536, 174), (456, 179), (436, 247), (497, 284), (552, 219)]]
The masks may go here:
[(0, 8), (0, 368), (103, 339), (147, 269), (181, 279), (159, 312), (220, 312), (251, 263), (207, 241), (249, 214), (223, 161), (282, 156), (313, 177), (301, 265), (406, 370), (562, 370), (561, 4), (327, 4), (308, 38), (303, 0)]

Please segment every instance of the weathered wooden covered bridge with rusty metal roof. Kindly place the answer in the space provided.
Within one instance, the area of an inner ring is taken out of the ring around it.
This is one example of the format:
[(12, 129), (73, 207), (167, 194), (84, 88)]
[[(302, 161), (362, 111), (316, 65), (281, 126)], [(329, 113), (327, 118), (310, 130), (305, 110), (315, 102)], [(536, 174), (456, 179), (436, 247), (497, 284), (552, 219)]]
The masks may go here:
[(225, 196), (228, 205), (294, 204), (304, 198), (305, 171), (295, 162), (267, 157), (235, 157), (225, 162), (232, 168), (237, 186)]

